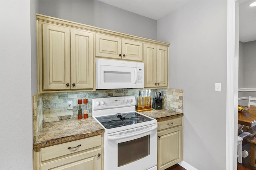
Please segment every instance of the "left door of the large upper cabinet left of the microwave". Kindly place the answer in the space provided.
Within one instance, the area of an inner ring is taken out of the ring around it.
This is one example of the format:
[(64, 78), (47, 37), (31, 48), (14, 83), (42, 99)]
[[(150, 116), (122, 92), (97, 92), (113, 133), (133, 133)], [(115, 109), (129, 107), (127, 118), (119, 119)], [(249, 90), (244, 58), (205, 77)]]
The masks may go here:
[(70, 29), (43, 24), (43, 89), (69, 89)]

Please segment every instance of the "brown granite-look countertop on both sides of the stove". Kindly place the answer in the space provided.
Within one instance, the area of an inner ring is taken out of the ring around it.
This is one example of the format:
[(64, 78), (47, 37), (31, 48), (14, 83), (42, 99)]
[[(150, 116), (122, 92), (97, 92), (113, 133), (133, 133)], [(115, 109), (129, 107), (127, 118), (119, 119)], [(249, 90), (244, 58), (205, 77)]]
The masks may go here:
[[(183, 113), (171, 110), (159, 109), (141, 112), (157, 121), (165, 121), (175, 117), (182, 117)], [(58, 143), (82, 139), (104, 133), (104, 128), (92, 117), (88, 119), (68, 119), (55, 122), (43, 123), (35, 147), (46, 147)]]

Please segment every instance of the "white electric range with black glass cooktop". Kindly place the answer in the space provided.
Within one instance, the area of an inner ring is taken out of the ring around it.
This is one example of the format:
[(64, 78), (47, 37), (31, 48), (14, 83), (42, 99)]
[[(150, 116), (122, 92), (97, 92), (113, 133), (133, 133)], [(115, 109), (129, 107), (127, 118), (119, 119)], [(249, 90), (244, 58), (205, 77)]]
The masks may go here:
[(104, 170), (157, 169), (157, 121), (135, 104), (134, 96), (92, 99), (92, 117), (105, 129)]

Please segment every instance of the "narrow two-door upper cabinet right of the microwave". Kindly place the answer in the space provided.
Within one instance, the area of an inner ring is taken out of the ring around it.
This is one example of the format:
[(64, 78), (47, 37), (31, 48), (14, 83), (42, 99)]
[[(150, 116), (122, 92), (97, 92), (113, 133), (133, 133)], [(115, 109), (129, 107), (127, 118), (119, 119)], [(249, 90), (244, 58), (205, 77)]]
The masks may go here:
[(145, 88), (168, 88), (168, 47), (144, 43)]

